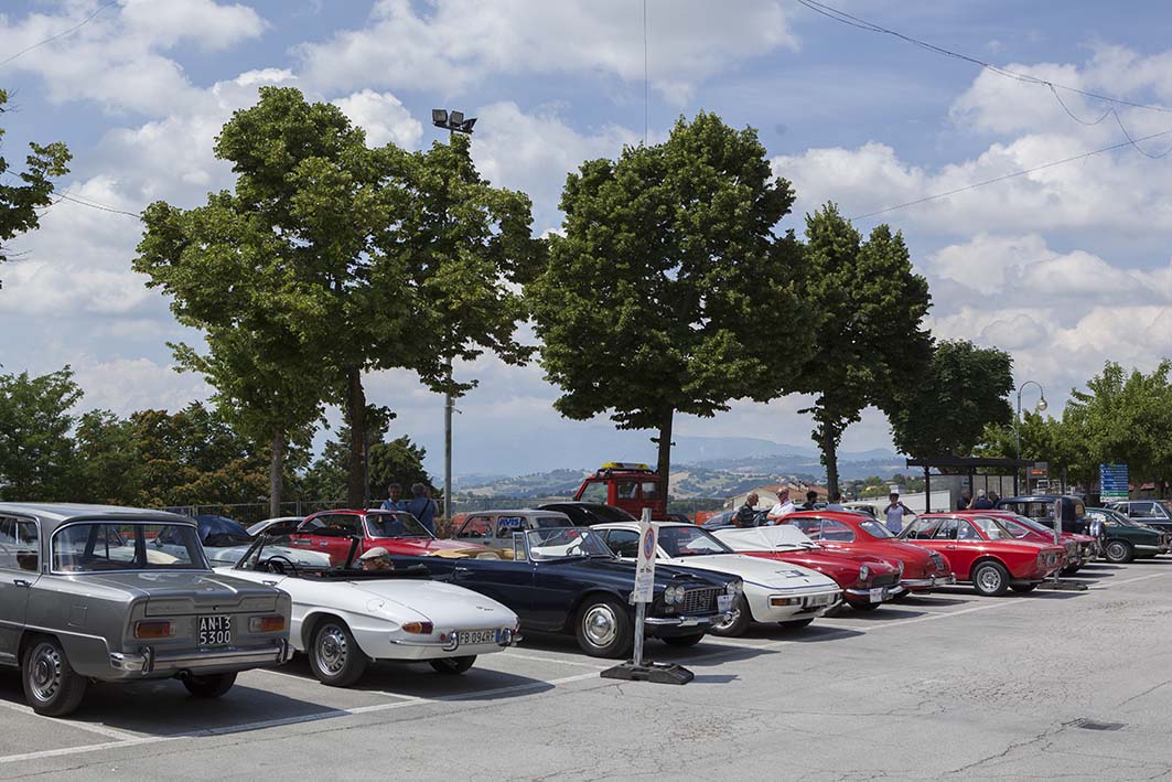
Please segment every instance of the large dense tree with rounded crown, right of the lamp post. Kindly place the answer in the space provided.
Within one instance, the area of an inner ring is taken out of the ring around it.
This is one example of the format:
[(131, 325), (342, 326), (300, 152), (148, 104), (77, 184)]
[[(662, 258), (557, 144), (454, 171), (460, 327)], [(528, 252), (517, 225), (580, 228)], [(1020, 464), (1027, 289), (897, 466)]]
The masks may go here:
[(812, 331), (797, 242), (775, 233), (792, 204), (756, 131), (707, 113), (571, 174), (564, 236), (526, 290), (554, 408), (655, 430), (666, 476), (677, 413), (789, 390), (785, 365), (809, 355)]

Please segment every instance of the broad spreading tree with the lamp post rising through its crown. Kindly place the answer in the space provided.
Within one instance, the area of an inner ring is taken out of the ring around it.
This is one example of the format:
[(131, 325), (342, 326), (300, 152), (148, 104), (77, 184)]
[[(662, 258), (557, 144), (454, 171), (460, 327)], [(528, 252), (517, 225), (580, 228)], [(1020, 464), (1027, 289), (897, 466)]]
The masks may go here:
[(188, 211), (149, 206), (135, 268), (173, 297), (180, 321), (257, 334), (275, 325), (297, 336), (292, 368), (316, 360), (333, 374), (321, 399), (346, 414), (356, 505), (363, 373), (407, 368), (444, 389), (447, 359), (477, 345), (518, 358), (510, 285), (539, 250), (529, 199), (481, 181), (466, 142), (370, 149), (338, 107), (291, 88), (263, 88), (224, 125), (216, 155), (232, 162), (234, 192)]

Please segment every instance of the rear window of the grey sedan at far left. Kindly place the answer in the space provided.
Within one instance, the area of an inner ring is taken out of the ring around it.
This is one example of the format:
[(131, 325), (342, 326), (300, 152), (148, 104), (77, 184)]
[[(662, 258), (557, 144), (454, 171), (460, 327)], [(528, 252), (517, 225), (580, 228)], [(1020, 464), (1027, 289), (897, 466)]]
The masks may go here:
[[(159, 542), (163, 535), (170, 540), (166, 545)], [(195, 526), (86, 522), (62, 526), (53, 536), (53, 570), (207, 570), (207, 563)]]

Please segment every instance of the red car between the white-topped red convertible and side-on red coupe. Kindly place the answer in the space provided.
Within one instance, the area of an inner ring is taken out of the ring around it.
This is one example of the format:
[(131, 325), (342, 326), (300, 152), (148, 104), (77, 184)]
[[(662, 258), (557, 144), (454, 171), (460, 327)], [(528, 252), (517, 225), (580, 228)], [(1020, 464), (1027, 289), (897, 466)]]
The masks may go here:
[(864, 514), (804, 510), (785, 516), (781, 523), (792, 524), (832, 551), (904, 563), (899, 585), (905, 594), (925, 594), (935, 586), (956, 583), (952, 565), (942, 553), (900, 540), (880, 522)]

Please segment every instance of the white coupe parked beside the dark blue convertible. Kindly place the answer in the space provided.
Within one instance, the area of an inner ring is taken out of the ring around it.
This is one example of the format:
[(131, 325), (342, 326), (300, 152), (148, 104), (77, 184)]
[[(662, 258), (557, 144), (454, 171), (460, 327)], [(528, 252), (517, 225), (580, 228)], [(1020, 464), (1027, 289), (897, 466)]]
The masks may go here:
[[(717, 635), (740, 635), (750, 621), (804, 627), (838, 605), (843, 597), (838, 584), (817, 571), (736, 553), (695, 524), (655, 522), (655, 526), (659, 538), (656, 562), (732, 573), (744, 582), (744, 593), (737, 606), (740, 611), (713, 626), (710, 632)], [(591, 529), (601, 535), (619, 557), (636, 558), (638, 522), (597, 524)]]

